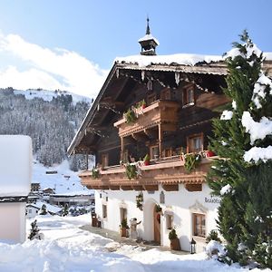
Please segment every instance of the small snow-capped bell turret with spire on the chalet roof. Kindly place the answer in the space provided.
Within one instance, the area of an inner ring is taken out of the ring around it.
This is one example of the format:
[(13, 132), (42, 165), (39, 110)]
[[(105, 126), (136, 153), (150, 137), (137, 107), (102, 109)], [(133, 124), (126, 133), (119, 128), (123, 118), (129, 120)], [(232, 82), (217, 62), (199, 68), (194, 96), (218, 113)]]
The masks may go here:
[(149, 17), (147, 17), (146, 34), (138, 42), (141, 44), (141, 54), (156, 55), (156, 46), (159, 45), (159, 41), (151, 35)]

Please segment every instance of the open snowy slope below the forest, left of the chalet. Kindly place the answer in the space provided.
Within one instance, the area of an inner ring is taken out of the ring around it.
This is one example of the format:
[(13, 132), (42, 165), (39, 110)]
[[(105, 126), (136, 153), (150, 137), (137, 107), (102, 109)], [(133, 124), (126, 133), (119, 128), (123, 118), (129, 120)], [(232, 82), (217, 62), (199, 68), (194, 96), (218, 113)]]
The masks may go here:
[(40, 183), (41, 189), (55, 189), (56, 194), (92, 194), (92, 190), (86, 189), (81, 184), (78, 172), (69, 170), (67, 160), (63, 160), (58, 166), (48, 168), (34, 160), (32, 182)]

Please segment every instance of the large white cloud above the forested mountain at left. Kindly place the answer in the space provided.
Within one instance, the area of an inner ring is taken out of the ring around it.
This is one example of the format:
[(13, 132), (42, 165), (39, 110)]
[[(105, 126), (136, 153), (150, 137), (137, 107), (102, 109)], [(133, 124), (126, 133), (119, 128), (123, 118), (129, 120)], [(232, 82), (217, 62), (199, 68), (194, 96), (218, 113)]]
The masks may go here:
[(93, 97), (108, 73), (79, 53), (30, 44), (15, 34), (0, 34), (0, 56), (6, 53), (28, 68), (19, 71), (15, 66), (5, 67), (0, 71), (0, 87), (61, 89)]

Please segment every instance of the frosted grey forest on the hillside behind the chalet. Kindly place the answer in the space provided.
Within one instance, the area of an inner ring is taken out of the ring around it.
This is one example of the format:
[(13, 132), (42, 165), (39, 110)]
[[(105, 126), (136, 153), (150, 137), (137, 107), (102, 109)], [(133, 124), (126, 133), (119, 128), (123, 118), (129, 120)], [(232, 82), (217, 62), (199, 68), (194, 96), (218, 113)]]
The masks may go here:
[[(51, 101), (41, 97), (30, 100), (13, 88), (0, 89), (0, 134), (29, 135), (34, 158), (44, 166), (68, 159), (67, 148), (90, 107), (90, 102), (73, 102), (72, 94), (63, 93), (58, 92)], [(80, 155), (69, 162), (71, 170), (85, 167)]]

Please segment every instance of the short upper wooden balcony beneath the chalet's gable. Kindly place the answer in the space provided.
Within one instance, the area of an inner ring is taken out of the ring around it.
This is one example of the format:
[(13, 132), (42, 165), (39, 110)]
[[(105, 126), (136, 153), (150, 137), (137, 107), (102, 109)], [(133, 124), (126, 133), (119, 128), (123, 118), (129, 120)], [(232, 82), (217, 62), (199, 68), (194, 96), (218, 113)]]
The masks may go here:
[(133, 136), (136, 133), (144, 131), (148, 135), (148, 130), (161, 126), (162, 131), (175, 131), (178, 122), (178, 102), (171, 101), (156, 101), (144, 109), (137, 109), (137, 120), (132, 123), (127, 123), (125, 118), (114, 123), (114, 126), (119, 129), (121, 138)]

